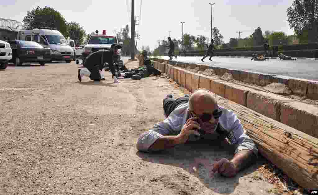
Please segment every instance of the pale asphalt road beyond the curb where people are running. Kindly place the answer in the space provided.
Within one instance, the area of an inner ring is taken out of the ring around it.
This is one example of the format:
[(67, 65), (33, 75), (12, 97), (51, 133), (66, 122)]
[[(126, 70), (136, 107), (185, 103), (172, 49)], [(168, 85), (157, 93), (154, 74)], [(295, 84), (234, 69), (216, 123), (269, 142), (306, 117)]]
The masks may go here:
[[(169, 60), (168, 56), (162, 56), (162, 58)], [(251, 58), (213, 57), (213, 62), (211, 62), (209, 57), (207, 57), (204, 62), (201, 62), (201, 58), (180, 56), (177, 57), (177, 61), (318, 81), (318, 61), (314, 60), (281, 61), (279, 59), (270, 59), (268, 61), (251, 61)], [(173, 58), (173, 60), (176, 59)]]

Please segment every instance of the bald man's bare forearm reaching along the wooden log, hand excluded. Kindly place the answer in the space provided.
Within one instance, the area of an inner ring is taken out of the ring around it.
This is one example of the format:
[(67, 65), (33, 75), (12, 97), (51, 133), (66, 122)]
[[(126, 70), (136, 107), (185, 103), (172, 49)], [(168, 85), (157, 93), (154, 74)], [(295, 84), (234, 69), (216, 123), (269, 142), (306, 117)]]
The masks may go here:
[(235, 165), (236, 171), (239, 172), (240, 170), (254, 163), (255, 160), (256, 155), (253, 153), (253, 151), (246, 149), (240, 150), (238, 153), (236, 153), (231, 162)]

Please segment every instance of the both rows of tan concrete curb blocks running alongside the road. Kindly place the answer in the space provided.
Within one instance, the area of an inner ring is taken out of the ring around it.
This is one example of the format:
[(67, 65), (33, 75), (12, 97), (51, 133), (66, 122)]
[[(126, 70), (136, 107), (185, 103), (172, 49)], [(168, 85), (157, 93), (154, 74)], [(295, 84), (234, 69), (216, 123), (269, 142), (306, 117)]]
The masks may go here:
[[(223, 81), (211, 76), (192, 72), (193, 64), (183, 62), (154, 62), (154, 67), (178, 84), (193, 92), (197, 88), (205, 88), (226, 99), (239, 103), (260, 114), (279, 121), (289, 127), (318, 138), (318, 108), (303, 102), (295, 101), (281, 95), (266, 93), (252, 88), (244, 87), (232, 82)], [(168, 63), (167, 63), (168, 62)], [(190, 70), (184, 68), (189, 67)], [(277, 75), (265, 75), (255, 72), (229, 70), (226, 68), (209, 67), (207, 65), (196, 65), (200, 71), (207, 68), (214, 70), (216, 75), (223, 75), (225, 72), (232, 73), (233, 78), (253, 84), (265, 86), (272, 82), (288, 84), (293, 93), (306, 94), (318, 97), (318, 82), (294, 79)], [(192, 70), (192, 71), (191, 71)]]

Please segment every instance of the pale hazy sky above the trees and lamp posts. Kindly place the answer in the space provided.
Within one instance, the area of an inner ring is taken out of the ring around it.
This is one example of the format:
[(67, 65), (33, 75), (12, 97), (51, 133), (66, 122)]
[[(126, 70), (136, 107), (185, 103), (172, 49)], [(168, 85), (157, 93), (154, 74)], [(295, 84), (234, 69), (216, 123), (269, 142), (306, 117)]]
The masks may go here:
[[(283, 31), (292, 35), (286, 10), (293, 0), (135, 0), (135, 16), (140, 15), (140, 24), (136, 26), (140, 40), (137, 47), (149, 45), (153, 49), (157, 40), (169, 36), (181, 39), (183, 33), (210, 37), (211, 5), (213, 5), (212, 26), (220, 29), (224, 42), (231, 37), (240, 37), (253, 33), (261, 27), (265, 30)], [(67, 22), (75, 21), (84, 27), (86, 33), (106, 29), (107, 34), (131, 24), (131, 0), (1, 0), (0, 17), (23, 21), (27, 11), (37, 6), (50, 6), (58, 10)]]

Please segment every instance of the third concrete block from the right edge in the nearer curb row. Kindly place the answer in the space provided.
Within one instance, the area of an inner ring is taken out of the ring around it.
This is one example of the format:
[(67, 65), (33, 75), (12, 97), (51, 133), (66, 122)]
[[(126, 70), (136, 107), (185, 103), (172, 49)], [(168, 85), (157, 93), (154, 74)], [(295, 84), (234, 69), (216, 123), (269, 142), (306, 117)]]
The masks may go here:
[(246, 107), (247, 93), (252, 90), (241, 85), (228, 83), (225, 86), (225, 98)]

